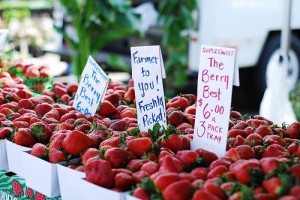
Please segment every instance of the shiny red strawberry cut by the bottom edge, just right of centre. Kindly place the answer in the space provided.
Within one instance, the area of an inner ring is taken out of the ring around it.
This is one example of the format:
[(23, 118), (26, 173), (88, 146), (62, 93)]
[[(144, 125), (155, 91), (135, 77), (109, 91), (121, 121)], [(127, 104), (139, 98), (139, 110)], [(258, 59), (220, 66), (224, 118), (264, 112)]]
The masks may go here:
[(163, 191), (165, 200), (191, 199), (192, 196), (193, 188), (191, 183), (187, 180), (171, 183)]

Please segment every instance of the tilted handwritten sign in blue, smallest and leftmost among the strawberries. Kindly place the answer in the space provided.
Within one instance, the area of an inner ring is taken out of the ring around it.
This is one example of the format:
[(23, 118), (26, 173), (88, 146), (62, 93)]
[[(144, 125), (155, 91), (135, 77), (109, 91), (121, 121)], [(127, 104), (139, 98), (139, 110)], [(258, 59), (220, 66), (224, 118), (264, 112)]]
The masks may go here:
[(96, 61), (89, 56), (81, 74), (73, 107), (88, 116), (93, 116), (107, 88), (109, 78)]

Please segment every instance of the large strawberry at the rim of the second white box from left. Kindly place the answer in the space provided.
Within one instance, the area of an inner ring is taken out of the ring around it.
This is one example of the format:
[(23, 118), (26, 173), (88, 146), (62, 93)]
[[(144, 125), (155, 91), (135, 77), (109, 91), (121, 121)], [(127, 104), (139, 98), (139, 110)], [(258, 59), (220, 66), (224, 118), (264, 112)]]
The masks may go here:
[(36, 139), (31, 135), (29, 128), (20, 128), (15, 133), (13, 142), (21, 146), (30, 147), (36, 143)]

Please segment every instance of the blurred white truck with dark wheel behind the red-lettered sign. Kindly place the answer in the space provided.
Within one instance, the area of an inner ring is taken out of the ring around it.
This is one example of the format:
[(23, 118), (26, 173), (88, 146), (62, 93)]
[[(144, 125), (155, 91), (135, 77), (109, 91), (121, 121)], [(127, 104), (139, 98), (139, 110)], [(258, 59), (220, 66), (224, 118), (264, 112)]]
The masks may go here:
[[(200, 45), (235, 47), (240, 68), (255, 67), (253, 97), (260, 101), (266, 70), (278, 59), (285, 0), (199, 0), (198, 27), (190, 34), (189, 70), (198, 71)], [(292, 1), (289, 89), (300, 78), (300, 0)]]

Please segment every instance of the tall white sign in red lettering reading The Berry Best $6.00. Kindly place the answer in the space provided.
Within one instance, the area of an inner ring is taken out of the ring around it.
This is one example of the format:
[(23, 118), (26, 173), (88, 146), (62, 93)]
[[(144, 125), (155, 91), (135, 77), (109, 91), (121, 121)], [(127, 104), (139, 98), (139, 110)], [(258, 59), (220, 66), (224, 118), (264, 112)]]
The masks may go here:
[(192, 148), (225, 155), (236, 49), (201, 46)]

